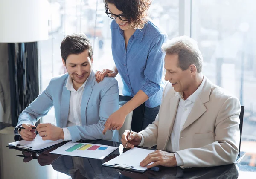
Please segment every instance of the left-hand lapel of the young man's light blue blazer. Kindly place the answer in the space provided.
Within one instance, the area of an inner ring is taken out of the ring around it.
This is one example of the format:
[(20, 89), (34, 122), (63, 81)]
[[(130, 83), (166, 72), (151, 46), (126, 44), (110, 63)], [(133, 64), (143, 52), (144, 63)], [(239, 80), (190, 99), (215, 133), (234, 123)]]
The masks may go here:
[(61, 127), (67, 127), (67, 118), (70, 106), (70, 91), (66, 88), (67, 79), (64, 83), (61, 96)]

